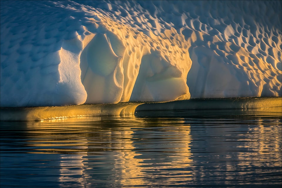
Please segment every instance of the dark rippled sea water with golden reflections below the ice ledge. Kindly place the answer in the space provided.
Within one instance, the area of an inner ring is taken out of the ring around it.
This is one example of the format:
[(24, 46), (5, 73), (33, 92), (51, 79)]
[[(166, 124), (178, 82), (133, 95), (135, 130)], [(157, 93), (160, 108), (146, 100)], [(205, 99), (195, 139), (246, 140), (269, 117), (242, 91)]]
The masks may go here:
[(281, 187), (281, 108), (1, 122), (5, 187)]

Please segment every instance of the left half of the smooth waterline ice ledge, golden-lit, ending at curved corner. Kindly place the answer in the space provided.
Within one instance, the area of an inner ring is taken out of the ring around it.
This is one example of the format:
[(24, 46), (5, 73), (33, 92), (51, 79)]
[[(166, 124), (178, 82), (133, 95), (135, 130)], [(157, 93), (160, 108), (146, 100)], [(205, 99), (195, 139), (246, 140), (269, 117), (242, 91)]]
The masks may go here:
[(118, 103), (71, 106), (1, 107), (1, 121), (39, 121), (70, 117), (134, 115), (141, 103)]

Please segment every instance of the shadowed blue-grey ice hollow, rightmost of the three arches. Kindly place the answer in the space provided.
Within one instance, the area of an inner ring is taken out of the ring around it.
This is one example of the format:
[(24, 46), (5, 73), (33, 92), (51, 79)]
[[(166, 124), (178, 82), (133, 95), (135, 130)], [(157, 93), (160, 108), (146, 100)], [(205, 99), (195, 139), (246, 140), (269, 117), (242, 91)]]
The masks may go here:
[(240, 77), (232, 66), (225, 63), (212, 49), (197, 46), (190, 48), (189, 54), (193, 63), (187, 74), (187, 85), (192, 98), (250, 95), (250, 90), (242, 93), (246, 81), (240, 82)]

